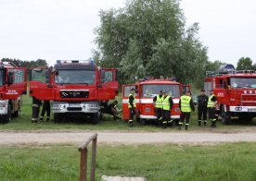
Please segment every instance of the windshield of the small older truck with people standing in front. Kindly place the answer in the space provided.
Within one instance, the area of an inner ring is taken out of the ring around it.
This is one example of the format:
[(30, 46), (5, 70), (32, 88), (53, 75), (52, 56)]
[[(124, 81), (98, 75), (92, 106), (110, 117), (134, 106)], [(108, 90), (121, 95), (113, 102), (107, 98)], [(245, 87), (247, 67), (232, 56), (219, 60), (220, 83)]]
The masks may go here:
[(180, 86), (171, 84), (143, 85), (142, 97), (153, 98), (160, 93), (160, 90), (166, 90), (173, 98), (180, 97)]

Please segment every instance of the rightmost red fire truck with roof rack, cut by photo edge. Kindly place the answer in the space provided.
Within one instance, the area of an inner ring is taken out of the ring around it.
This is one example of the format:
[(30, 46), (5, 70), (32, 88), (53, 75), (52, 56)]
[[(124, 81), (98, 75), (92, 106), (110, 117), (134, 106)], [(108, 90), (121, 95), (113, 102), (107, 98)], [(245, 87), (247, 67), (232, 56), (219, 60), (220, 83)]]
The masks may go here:
[(251, 122), (256, 116), (256, 72), (235, 70), (232, 65), (218, 71), (207, 72), (205, 90), (213, 90), (218, 99), (218, 108), (223, 124), (230, 124), (237, 116), (243, 122)]

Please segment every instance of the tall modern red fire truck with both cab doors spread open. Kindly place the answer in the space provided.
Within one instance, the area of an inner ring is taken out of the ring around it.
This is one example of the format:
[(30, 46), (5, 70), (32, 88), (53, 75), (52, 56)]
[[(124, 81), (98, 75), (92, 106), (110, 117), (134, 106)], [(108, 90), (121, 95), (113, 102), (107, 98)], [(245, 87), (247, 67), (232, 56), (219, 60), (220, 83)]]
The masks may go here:
[(38, 118), (41, 101), (51, 100), (55, 122), (65, 115), (83, 114), (96, 124), (101, 103), (118, 95), (117, 69), (101, 69), (93, 60), (58, 60), (54, 68), (33, 68), (31, 75), (34, 120)]

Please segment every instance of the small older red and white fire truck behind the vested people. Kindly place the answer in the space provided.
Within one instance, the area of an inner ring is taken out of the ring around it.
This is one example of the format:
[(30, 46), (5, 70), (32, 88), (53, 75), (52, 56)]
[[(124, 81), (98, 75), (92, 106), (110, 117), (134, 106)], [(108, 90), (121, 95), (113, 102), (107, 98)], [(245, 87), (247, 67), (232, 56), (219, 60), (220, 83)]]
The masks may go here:
[(131, 89), (135, 89), (136, 99), (136, 120), (145, 125), (147, 121), (156, 121), (153, 98), (159, 94), (160, 90), (166, 90), (173, 97), (173, 109), (171, 112), (172, 119), (180, 118), (179, 100), (180, 96), (190, 90), (190, 85), (184, 85), (168, 79), (148, 79), (135, 84), (122, 85), (122, 119), (129, 119), (129, 94)]

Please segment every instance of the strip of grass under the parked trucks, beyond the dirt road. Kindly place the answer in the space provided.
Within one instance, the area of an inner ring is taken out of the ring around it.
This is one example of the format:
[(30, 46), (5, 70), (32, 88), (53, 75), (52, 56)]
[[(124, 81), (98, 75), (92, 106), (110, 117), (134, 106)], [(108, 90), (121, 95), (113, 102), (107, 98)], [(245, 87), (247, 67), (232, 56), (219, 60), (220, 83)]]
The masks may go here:
[[(118, 97), (117, 100), (119, 103), (122, 103), (121, 97)], [(120, 104), (121, 108), (122, 105)], [(12, 118), (9, 124), (3, 125), (0, 124), (0, 130), (30, 130), (30, 129), (90, 129), (90, 130), (103, 130), (103, 129), (114, 129), (114, 130), (139, 130), (139, 131), (162, 131), (161, 127), (157, 127), (156, 125), (148, 125), (141, 126), (139, 124), (135, 124), (135, 127), (128, 127), (124, 121), (114, 121), (111, 115), (104, 115), (103, 120), (97, 124), (92, 125), (90, 123), (86, 123), (81, 120), (67, 120), (63, 123), (55, 124), (53, 121), (46, 122), (42, 124), (33, 125), (31, 123), (31, 115), (32, 115), (32, 99), (25, 95), (23, 96), (23, 104), (21, 116), (18, 118)], [(247, 127), (256, 127), (256, 120), (253, 120), (251, 125), (242, 125), (239, 122), (235, 122), (230, 126), (223, 126), (221, 123), (218, 123), (218, 127), (216, 129), (211, 129), (208, 127), (198, 127), (197, 126), (197, 113), (193, 113), (191, 116), (191, 126), (190, 130), (202, 130), (202, 131), (224, 131), (224, 130), (240, 130)], [(210, 123), (209, 123), (210, 125)], [(176, 130), (176, 128), (167, 128), (164, 131)]]

